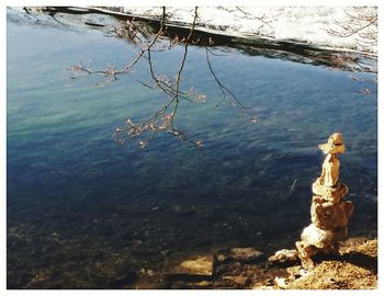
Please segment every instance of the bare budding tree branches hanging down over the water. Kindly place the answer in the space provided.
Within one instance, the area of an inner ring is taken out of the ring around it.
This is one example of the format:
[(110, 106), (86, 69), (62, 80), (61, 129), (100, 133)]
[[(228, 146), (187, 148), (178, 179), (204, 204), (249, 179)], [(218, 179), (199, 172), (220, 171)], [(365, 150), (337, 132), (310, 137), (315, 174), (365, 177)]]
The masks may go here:
[[(196, 147), (203, 146), (202, 140), (192, 140), (190, 139), (190, 137), (187, 136), (184, 132), (176, 128), (176, 116), (177, 116), (181, 100), (185, 100), (189, 102), (205, 102), (206, 100), (205, 94), (194, 93), (193, 87), (190, 88), (188, 91), (181, 89), (181, 84), (183, 80), (182, 72), (185, 67), (185, 61), (189, 54), (189, 46), (191, 44), (196, 44), (200, 42), (199, 36), (197, 37), (193, 36), (195, 31), (195, 25), (199, 19), (197, 7), (194, 8), (193, 13), (194, 13), (193, 22), (189, 31), (189, 34), (185, 37), (180, 39), (178, 35), (171, 37), (171, 35), (169, 34), (169, 45), (160, 47), (160, 49), (156, 49), (155, 45), (158, 45), (160, 37), (163, 37), (167, 35), (167, 29), (166, 29), (165, 22), (168, 14), (167, 14), (166, 8), (163, 7), (162, 15), (160, 20), (160, 29), (155, 35), (155, 37), (140, 48), (136, 58), (133, 61), (128, 62), (125, 67), (121, 69), (116, 69), (113, 65), (109, 65), (108, 69), (93, 70), (89, 68), (89, 65), (83, 66), (82, 64), (72, 66), (70, 68), (72, 72), (71, 78), (81, 78), (83, 76), (90, 76), (90, 75), (101, 75), (106, 77), (106, 80), (103, 83), (98, 84), (103, 87), (110, 82), (116, 81), (121, 75), (132, 72), (134, 66), (140, 59), (144, 58), (148, 61), (148, 69), (149, 69), (150, 78), (153, 80), (153, 84), (144, 81), (138, 81), (138, 82), (151, 90), (161, 91), (166, 96), (169, 98), (169, 100), (159, 110), (157, 110), (151, 116), (149, 116), (144, 121), (135, 123), (131, 117), (127, 117), (124, 126), (115, 128), (114, 139), (117, 144), (125, 144), (126, 140), (129, 138), (139, 137), (140, 139), (138, 144), (142, 148), (145, 148), (147, 147), (148, 143), (154, 138), (156, 134), (167, 133), (180, 140), (184, 140)], [(135, 43), (140, 42), (139, 29), (135, 25), (133, 21), (127, 22), (127, 25), (124, 27), (124, 30), (125, 32), (124, 31), (118, 32), (120, 36), (126, 37)], [(158, 75), (156, 72), (156, 69), (153, 62), (153, 58), (154, 58), (153, 52), (171, 49), (172, 47), (181, 44), (183, 46), (183, 53), (182, 53), (182, 57), (181, 57), (178, 70), (176, 72), (174, 79), (169, 79), (167, 76)], [(212, 44), (213, 42), (210, 42), (210, 45)], [(238, 107), (240, 110), (241, 115), (246, 114), (250, 117), (252, 122), (256, 122), (257, 116), (252, 114), (251, 109), (241, 104), (241, 102), (236, 98), (236, 95), (219, 81), (219, 79), (217, 78), (216, 73), (212, 68), (212, 64), (210, 60), (208, 55), (212, 54), (212, 50), (210, 50), (207, 47), (205, 47), (205, 50), (206, 50), (206, 61), (207, 61), (210, 71), (213, 75), (217, 86), (222, 90), (222, 95), (223, 95), (222, 100), (225, 100), (228, 104)]]

